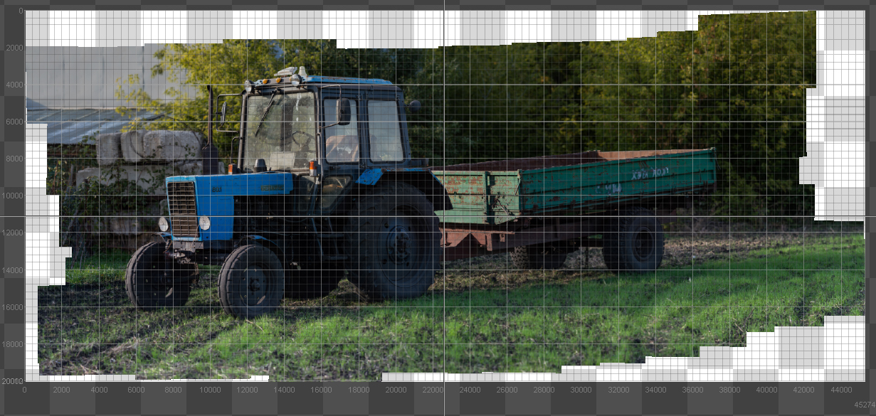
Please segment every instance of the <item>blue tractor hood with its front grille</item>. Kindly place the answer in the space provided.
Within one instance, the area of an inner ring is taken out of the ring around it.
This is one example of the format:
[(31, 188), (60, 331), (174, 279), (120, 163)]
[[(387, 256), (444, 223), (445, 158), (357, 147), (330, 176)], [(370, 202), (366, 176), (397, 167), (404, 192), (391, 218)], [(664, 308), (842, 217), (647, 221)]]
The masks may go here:
[[(173, 240), (229, 240), (236, 195), (291, 194), (294, 176), (285, 172), (172, 176), (166, 179)], [(201, 229), (201, 216), (209, 228)]]

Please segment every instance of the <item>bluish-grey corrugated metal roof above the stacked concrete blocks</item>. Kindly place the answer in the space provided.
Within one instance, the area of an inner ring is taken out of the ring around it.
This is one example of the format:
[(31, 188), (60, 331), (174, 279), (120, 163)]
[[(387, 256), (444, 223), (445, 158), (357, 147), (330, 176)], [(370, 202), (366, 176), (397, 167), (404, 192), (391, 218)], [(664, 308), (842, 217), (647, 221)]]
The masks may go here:
[[(30, 104), (30, 102), (28, 102)], [(123, 116), (115, 109), (48, 109), (28, 105), (27, 123), (46, 123), (49, 145), (74, 145), (88, 136), (116, 133), (138, 119), (150, 121), (162, 115), (139, 110), (131, 116)]]

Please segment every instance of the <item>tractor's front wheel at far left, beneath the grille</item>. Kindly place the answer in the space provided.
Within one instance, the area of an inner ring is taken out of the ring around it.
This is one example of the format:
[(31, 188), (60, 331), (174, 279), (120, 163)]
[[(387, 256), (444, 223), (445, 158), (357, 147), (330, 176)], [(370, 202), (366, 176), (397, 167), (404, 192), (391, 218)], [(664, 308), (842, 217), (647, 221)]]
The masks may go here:
[(145, 243), (128, 261), (124, 286), (138, 309), (181, 307), (188, 300), (190, 281), (180, 280), (196, 275), (197, 265), (179, 264), (164, 252), (164, 243)]

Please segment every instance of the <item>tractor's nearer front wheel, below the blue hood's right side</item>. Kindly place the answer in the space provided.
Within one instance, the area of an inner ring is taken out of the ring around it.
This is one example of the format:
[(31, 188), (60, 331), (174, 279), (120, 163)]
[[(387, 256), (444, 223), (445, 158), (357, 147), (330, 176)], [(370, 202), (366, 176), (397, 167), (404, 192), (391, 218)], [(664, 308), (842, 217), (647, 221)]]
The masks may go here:
[(219, 301), (238, 318), (270, 313), (283, 300), (284, 274), (273, 251), (258, 244), (238, 247), (219, 271)]

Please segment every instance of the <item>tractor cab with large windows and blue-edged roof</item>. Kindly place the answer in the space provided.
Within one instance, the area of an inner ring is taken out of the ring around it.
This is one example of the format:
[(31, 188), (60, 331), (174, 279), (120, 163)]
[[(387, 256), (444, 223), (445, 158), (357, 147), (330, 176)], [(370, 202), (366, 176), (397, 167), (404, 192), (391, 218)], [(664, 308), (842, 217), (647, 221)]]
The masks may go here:
[(292, 74), (295, 69), (244, 83), (242, 172), (308, 173), (310, 161), (319, 172), (410, 163), (400, 88), (378, 79), (309, 76), (303, 67)]

